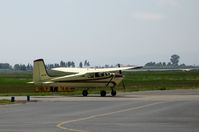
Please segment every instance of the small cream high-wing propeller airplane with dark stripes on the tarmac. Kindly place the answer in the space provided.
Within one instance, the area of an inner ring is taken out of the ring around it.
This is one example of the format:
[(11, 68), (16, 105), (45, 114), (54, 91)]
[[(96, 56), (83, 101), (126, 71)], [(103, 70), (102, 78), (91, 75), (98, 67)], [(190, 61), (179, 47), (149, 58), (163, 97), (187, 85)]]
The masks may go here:
[[(90, 88), (111, 88), (111, 95), (116, 96), (116, 86), (119, 85), (124, 76), (123, 70), (139, 69), (140, 66), (134, 67), (117, 67), (117, 68), (67, 68), (58, 67), (51, 70), (70, 75), (62, 75), (58, 77), (50, 76), (46, 70), (43, 59), (34, 60), (33, 64), (33, 83), (37, 86), (47, 86), (52, 91), (58, 91), (58, 87), (83, 88), (82, 95), (88, 95)], [(101, 90), (100, 95), (106, 96), (106, 91)]]

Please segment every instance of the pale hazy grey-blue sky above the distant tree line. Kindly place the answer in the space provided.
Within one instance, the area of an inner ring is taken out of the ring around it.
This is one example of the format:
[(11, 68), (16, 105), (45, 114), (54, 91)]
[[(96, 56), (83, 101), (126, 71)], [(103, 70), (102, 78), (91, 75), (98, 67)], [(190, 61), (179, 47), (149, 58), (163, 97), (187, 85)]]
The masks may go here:
[(199, 0), (0, 0), (0, 62), (199, 65)]

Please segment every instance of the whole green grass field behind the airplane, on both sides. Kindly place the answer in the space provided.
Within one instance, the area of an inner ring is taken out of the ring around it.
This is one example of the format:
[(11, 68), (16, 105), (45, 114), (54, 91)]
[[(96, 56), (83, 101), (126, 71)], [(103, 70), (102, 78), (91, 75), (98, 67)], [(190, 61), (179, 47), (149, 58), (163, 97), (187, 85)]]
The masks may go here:
[[(124, 72), (125, 91), (170, 90), (199, 88), (199, 71), (146, 71)], [(34, 92), (35, 86), (27, 84), (32, 81), (30, 72), (0, 73), (0, 95), (53, 95), (51, 92)], [(122, 85), (118, 90), (124, 91)], [(100, 89), (89, 90), (89, 93), (99, 93)], [(60, 95), (81, 95), (82, 90), (57, 93)]]

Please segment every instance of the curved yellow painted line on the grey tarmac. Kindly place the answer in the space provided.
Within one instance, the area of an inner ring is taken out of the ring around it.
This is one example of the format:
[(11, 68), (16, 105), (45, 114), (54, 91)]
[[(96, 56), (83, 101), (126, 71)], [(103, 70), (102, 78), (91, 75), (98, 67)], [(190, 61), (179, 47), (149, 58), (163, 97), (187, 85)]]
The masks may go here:
[(74, 119), (74, 120), (69, 120), (69, 121), (63, 121), (63, 122), (57, 124), (56, 127), (60, 128), (62, 130), (66, 130), (66, 131), (86, 132), (84, 130), (67, 128), (67, 127), (64, 127), (63, 125), (66, 125), (66, 124), (69, 124), (69, 123), (74, 123), (74, 122), (79, 122), (79, 121), (85, 121), (85, 120), (89, 120), (89, 119), (94, 119), (94, 118), (99, 118), (99, 117), (104, 117), (104, 116), (108, 116), (108, 115), (112, 115), (112, 114), (123, 113), (123, 112), (132, 111), (132, 110), (138, 110), (138, 109), (142, 109), (142, 108), (146, 108), (146, 107), (149, 107), (149, 106), (162, 104), (162, 103), (163, 102), (156, 102), (156, 103), (146, 104), (146, 105), (142, 105), (142, 106), (138, 106), (138, 107), (121, 109), (121, 110), (118, 110), (118, 111), (108, 112), (108, 113), (104, 113), (104, 114), (92, 115), (92, 116), (88, 116), (88, 117), (84, 117), (84, 118), (79, 118), (79, 119)]

